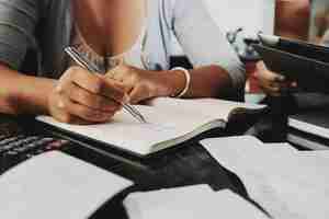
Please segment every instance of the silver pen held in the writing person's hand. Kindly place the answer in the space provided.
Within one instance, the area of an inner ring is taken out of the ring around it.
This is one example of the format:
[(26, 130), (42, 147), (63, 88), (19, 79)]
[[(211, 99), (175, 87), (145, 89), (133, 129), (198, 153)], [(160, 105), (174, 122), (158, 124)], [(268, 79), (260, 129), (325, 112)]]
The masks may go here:
[[(89, 61), (87, 58), (84, 58), (76, 48), (70, 46), (66, 47), (65, 53), (67, 53), (71, 59), (73, 59), (79, 66), (86, 68), (88, 71), (100, 72), (99, 68), (94, 64)], [(135, 108), (133, 105), (123, 103), (123, 107), (140, 123), (147, 123), (141, 113), (139, 113), (138, 110)]]

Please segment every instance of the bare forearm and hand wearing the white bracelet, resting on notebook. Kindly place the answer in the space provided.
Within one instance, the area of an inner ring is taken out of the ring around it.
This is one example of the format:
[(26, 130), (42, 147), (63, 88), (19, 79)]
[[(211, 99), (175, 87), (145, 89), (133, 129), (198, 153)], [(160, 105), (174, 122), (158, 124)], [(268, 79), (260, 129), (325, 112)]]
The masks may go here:
[(181, 70), (151, 71), (123, 65), (109, 71), (105, 78), (122, 83), (134, 104), (158, 96), (178, 96), (186, 85), (188, 92), (182, 97), (231, 97), (229, 76), (218, 66), (193, 69), (189, 74), (190, 84)]

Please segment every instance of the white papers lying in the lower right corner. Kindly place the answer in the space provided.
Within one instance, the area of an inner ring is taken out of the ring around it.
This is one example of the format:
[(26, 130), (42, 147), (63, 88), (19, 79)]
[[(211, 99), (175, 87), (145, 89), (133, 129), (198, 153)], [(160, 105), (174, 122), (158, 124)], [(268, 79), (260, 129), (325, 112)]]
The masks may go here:
[(206, 139), (202, 145), (240, 177), (249, 196), (273, 218), (329, 218), (328, 151), (297, 151), (248, 136)]

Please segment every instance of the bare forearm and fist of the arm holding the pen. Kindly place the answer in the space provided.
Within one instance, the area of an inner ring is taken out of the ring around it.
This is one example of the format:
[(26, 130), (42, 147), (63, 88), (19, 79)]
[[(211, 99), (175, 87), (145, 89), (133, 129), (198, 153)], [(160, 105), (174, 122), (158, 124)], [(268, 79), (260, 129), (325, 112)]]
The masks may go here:
[(0, 112), (47, 114), (71, 124), (109, 120), (125, 102), (115, 81), (84, 69), (69, 68), (59, 80), (24, 76), (0, 65)]

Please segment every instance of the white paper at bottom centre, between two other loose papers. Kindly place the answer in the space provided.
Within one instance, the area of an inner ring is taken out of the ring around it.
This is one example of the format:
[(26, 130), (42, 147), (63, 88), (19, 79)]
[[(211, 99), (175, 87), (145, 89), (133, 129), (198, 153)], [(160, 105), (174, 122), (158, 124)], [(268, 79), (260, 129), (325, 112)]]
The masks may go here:
[(208, 185), (134, 193), (124, 207), (129, 219), (268, 218), (237, 194), (214, 192)]

